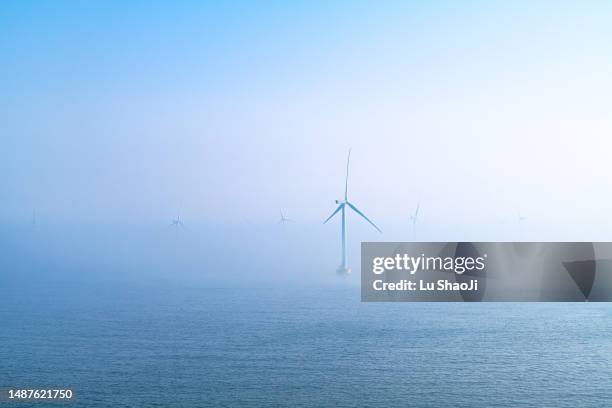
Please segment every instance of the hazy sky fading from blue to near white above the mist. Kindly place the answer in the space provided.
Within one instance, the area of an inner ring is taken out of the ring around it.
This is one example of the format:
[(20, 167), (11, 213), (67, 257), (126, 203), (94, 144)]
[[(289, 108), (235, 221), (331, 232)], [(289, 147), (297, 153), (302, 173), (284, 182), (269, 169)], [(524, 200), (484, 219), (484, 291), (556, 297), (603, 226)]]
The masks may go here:
[(319, 228), (352, 148), (349, 198), (383, 231), (420, 201), (431, 239), (504, 238), (470, 231), (518, 212), (530, 239), (605, 237), (610, 21), (605, 1), (4, 1), (0, 223)]

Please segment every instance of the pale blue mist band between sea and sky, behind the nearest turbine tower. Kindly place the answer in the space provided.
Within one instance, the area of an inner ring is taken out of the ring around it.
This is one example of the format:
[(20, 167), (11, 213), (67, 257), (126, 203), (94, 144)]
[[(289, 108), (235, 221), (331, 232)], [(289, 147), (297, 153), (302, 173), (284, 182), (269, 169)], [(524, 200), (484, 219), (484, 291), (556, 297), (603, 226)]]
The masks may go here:
[[(583, 236), (605, 240), (603, 229), (564, 234), (554, 226), (513, 219), (490, 224), (440, 225), (425, 213), (413, 228), (408, 217), (380, 224), (379, 234), (348, 216), (348, 264), (340, 278), (340, 225), (294, 221), (242, 222), (185, 228), (163, 223), (4, 225), (0, 229), (0, 279), (8, 281), (168, 282), (204, 287), (359, 284), (362, 241), (530, 241)], [(323, 218), (323, 217), (322, 217)], [(374, 218), (374, 217), (372, 217)], [(376, 219), (374, 218), (376, 221)], [(575, 240), (575, 239), (574, 239)]]

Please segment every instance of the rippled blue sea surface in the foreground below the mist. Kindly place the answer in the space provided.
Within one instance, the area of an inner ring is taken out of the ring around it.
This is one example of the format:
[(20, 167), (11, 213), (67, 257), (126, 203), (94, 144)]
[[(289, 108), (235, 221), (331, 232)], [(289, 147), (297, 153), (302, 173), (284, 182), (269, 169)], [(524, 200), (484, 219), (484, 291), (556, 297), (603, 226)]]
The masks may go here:
[(135, 284), (0, 294), (0, 386), (69, 386), (73, 406), (574, 408), (612, 400), (605, 303), (375, 304), (361, 303), (357, 288)]

